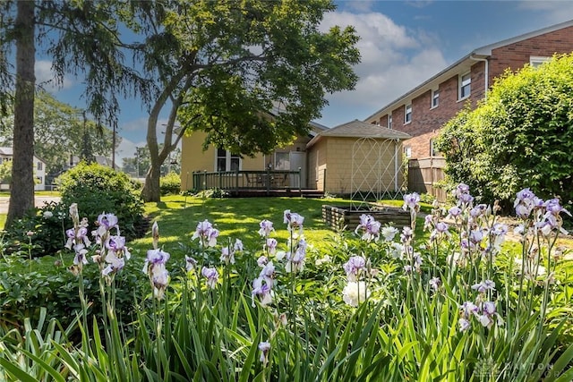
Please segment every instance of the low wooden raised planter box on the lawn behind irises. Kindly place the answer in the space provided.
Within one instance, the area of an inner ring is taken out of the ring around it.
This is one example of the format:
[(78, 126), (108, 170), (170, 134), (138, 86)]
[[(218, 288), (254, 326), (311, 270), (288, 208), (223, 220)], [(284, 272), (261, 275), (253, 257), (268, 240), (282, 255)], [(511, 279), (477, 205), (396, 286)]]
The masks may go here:
[(322, 220), (334, 230), (355, 230), (360, 224), (360, 216), (370, 215), (382, 226), (393, 224), (398, 229), (411, 224), (410, 213), (402, 208), (372, 206), (371, 208), (350, 209), (349, 206), (322, 206)]

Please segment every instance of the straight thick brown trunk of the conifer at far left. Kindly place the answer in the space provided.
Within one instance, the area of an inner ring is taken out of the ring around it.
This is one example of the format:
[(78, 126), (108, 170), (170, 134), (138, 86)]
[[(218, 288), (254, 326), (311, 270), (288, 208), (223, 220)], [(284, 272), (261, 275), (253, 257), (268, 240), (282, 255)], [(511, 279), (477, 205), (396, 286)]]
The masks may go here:
[(12, 187), (6, 226), (34, 207), (34, 7), (33, 1), (17, 2)]

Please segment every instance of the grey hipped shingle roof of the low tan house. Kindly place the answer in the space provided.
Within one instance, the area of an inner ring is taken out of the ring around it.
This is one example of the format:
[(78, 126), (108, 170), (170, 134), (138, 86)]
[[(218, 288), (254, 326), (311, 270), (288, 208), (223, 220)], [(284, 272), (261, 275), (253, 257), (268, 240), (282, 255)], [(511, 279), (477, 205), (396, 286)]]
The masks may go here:
[(373, 138), (383, 140), (408, 140), (411, 137), (406, 132), (398, 132), (377, 124), (365, 123), (355, 119), (354, 121), (339, 124), (332, 129), (327, 129), (316, 135), (306, 147), (311, 147), (322, 137), (342, 137), (342, 138)]

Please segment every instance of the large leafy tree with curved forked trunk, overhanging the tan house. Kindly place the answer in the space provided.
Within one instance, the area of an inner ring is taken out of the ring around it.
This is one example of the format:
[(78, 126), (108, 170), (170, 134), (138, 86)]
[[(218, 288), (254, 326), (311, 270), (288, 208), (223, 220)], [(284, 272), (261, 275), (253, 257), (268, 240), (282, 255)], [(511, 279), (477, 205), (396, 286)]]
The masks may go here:
[[(158, 201), (160, 167), (185, 133), (241, 155), (268, 153), (308, 131), (325, 94), (353, 89), (355, 30), (319, 29), (329, 0), (177, 1), (139, 8), (140, 52), (158, 97), (150, 105), (150, 170), (143, 199)], [(162, 149), (158, 118), (168, 110)], [(175, 122), (181, 127), (176, 129)]]

